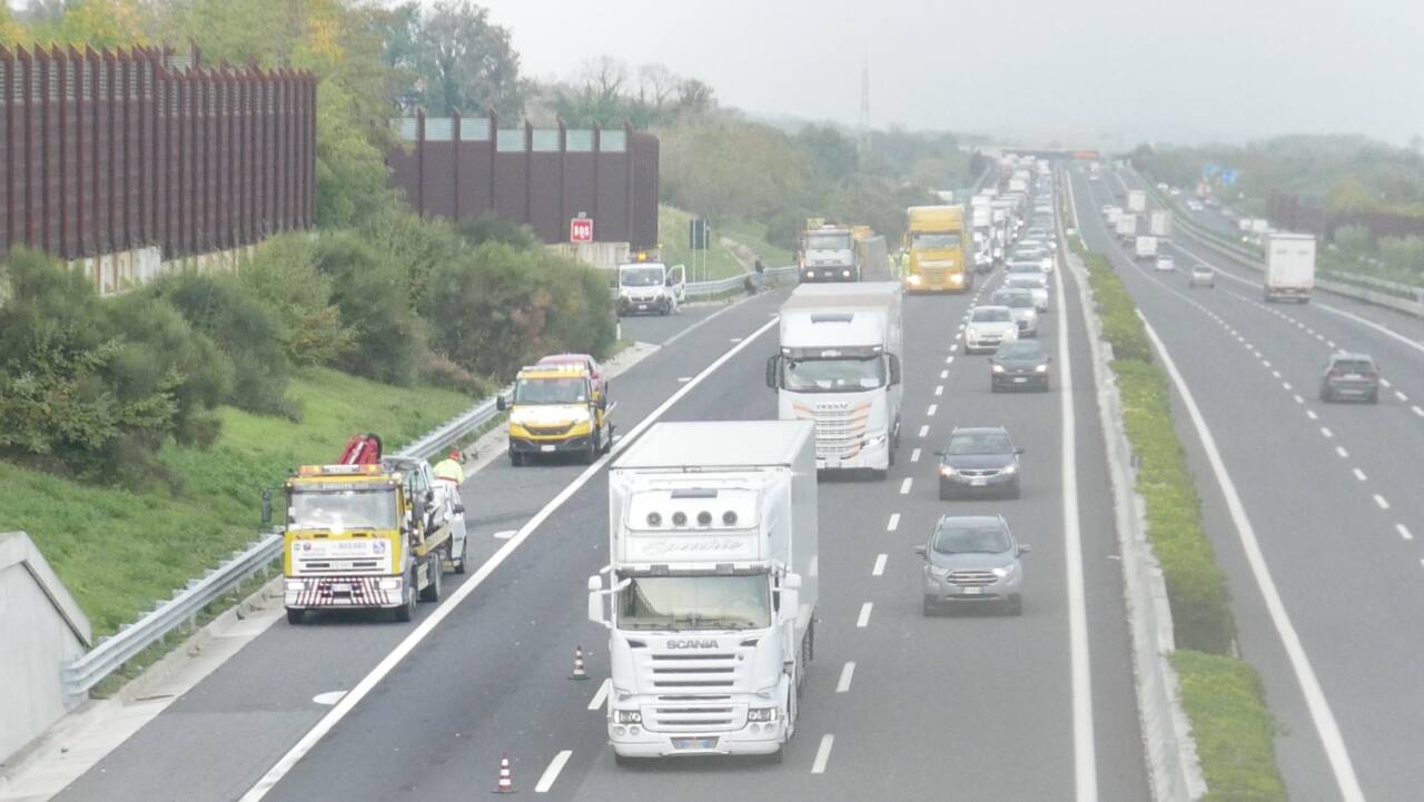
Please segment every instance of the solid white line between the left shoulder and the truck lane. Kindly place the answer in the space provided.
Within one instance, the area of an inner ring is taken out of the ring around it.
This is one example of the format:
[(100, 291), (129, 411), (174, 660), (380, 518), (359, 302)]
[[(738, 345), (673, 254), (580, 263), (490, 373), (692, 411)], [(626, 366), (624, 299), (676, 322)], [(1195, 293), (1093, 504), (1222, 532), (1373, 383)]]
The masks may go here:
[[(728, 306), (728, 309), (731, 309), (731, 306)], [(282, 755), (282, 758), (278, 759), (278, 762), (272, 768), (269, 768), (266, 774), (263, 774), (252, 785), (252, 788), (248, 789), (246, 793), (244, 793), (238, 799), (238, 802), (258, 802), (259, 799), (266, 796), (268, 792), (271, 792), (272, 788), (276, 786), (276, 783), (281, 782), (282, 778), (292, 771), (292, 766), (295, 766), (298, 761), (306, 756), (306, 754), (310, 752), (312, 748), (316, 746), (316, 744), (319, 744), (322, 738), (325, 738), (326, 734), (332, 731), (332, 728), (335, 728), (343, 718), (346, 718), (350, 714), (350, 711), (353, 711), (356, 705), (360, 704), (360, 701), (365, 699), (366, 695), (370, 694), (372, 689), (380, 684), (382, 679), (384, 679), (392, 671), (394, 671), (396, 667), (400, 665), (400, 662), (406, 660), (406, 657), (410, 655), (410, 652), (414, 651), (416, 647), (422, 644), (422, 641), (430, 637), (430, 632), (433, 632), (436, 627), (439, 627), (454, 611), (456, 607), (459, 607), (466, 598), (470, 598), (470, 595), (480, 585), (483, 585), (486, 580), (490, 578), (494, 570), (503, 566), (504, 561), (510, 558), (510, 554), (514, 554), (514, 551), (518, 550), (518, 547), (523, 546), (524, 541), (528, 540), (530, 536), (534, 534), (534, 531), (538, 530), (538, 527), (543, 526), (544, 521), (548, 520), (548, 517), (553, 516), (555, 510), (562, 507), (574, 496), (574, 493), (578, 493), (578, 490), (584, 484), (588, 484), (588, 481), (592, 480), (600, 470), (602, 470), (605, 463), (608, 463), (619, 453), (622, 453), (622, 450), (628, 446), (628, 443), (635, 442), (638, 439), (638, 434), (642, 434), (649, 426), (656, 423), (659, 417), (662, 417), (664, 415), (666, 415), (669, 409), (672, 409), (672, 405), (686, 397), (686, 395), (691, 393), (693, 389), (696, 389), (696, 386), (701, 385), (703, 379), (706, 379), (708, 376), (715, 373), (719, 368), (731, 362), (733, 356), (736, 356), (743, 349), (750, 346), (762, 335), (775, 329), (776, 323), (778, 319), (772, 318), (770, 321), (763, 323), (762, 328), (748, 335), (745, 340), (736, 343), (735, 346), (728, 349), (722, 356), (716, 358), (711, 365), (703, 368), (702, 372), (698, 373), (695, 379), (678, 387), (675, 393), (668, 396), (666, 400), (658, 405), (658, 407), (654, 409), (651, 413), (648, 413), (646, 417), (639, 420), (637, 426), (629, 429), (628, 433), (624, 436), (624, 439), (619, 440), (618, 443), (614, 443), (614, 446), (608, 450), (607, 454), (604, 454), (597, 462), (585, 467), (582, 473), (580, 473), (577, 477), (574, 477), (572, 481), (564, 486), (564, 489), (560, 490), (557, 496), (550, 499), (550, 501), (544, 504), (544, 507), (540, 509), (540, 511), (535, 513), (533, 519), (525, 521), (524, 526), (518, 528), (517, 534), (510, 537), (510, 540), (504, 541), (504, 546), (501, 546), (498, 551), (491, 554), (490, 558), (486, 560), (484, 564), (481, 564), (470, 576), (468, 580), (460, 584), (460, 587), (457, 587), (456, 591), (450, 594), (449, 600), (436, 607), (429, 615), (426, 615), (423, 621), (420, 621), (420, 624), (416, 625), (414, 630), (412, 630), (409, 635), (406, 635), (403, 641), (396, 644), (396, 647), (386, 657), (383, 657), (380, 662), (376, 664), (376, 668), (370, 670), (370, 674), (362, 677), (360, 682), (357, 682), (356, 687), (352, 688), (352, 691), (346, 694), (340, 702), (336, 702), (336, 707), (333, 707), (330, 712), (323, 715), (322, 719), (318, 721), (315, 727), (306, 731), (306, 735), (302, 735), (302, 738), (299, 738), (298, 742), (290, 749), (288, 749), (286, 754)]]

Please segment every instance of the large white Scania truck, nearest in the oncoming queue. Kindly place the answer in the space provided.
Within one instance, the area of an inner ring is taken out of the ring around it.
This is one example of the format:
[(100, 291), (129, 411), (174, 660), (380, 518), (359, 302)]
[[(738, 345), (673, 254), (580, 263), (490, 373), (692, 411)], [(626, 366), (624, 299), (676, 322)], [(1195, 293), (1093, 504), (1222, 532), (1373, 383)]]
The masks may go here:
[(617, 762), (779, 759), (815, 648), (813, 426), (655, 425), (608, 472), (608, 531), (588, 617), (608, 628)]

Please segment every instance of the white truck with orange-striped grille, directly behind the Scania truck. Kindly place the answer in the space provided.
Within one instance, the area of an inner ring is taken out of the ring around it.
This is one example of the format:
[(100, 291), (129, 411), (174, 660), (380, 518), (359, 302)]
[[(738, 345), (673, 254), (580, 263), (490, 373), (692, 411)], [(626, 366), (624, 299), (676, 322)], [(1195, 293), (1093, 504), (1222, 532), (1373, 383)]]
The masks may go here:
[(884, 477), (900, 443), (899, 282), (802, 285), (782, 305), (780, 349), (766, 362), (778, 417), (816, 423), (816, 467)]

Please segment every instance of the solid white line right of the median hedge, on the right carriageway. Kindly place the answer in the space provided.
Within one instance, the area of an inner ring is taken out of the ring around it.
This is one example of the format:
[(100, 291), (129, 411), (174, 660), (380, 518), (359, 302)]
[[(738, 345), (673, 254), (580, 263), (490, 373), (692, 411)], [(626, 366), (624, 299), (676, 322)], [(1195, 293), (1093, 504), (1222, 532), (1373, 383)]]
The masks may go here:
[[(1276, 627), (1276, 634), (1280, 637), (1280, 641), (1286, 648), (1286, 657), (1290, 660), (1290, 668), (1296, 674), (1296, 681), (1300, 684), (1302, 695), (1306, 698), (1306, 708), (1310, 711), (1310, 719), (1316, 727), (1316, 732), (1320, 735), (1320, 742), (1324, 745), (1326, 759), (1330, 762), (1330, 769), (1334, 774), (1336, 785), (1340, 788), (1340, 795), (1344, 798), (1344, 802), (1364, 802), (1364, 791), (1360, 788), (1360, 781), (1354, 774), (1354, 764), (1350, 762), (1350, 751), (1346, 749), (1344, 736), (1340, 734), (1340, 725), (1336, 722), (1334, 712), (1330, 709), (1330, 701), (1326, 699), (1326, 694), (1320, 688), (1320, 679), (1316, 677), (1316, 670), (1310, 665), (1310, 657), (1306, 655), (1306, 647), (1300, 642), (1300, 634), (1296, 632), (1294, 624), (1290, 623), (1290, 614), (1286, 613), (1286, 603), (1282, 601), (1280, 591), (1276, 588), (1276, 580), (1272, 578), (1270, 568), (1266, 566), (1266, 556), (1262, 553), (1260, 543), (1256, 540), (1256, 530), (1252, 527), (1250, 519), (1246, 516), (1246, 507), (1242, 503), (1240, 494), (1236, 491), (1236, 483), (1232, 481), (1230, 473), (1226, 470), (1226, 463), (1222, 460), (1222, 454), (1216, 449), (1216, 437), (1213, 437), (1212, 432), (1206, 427), (1206, 419), (1202, 417), (1202, 410), (1198, 409), (1196, 399), (1192, 397), (1192, 390), (1188, 389), (1186, 380), (1182, 379), (1182, 373), (1178, 372), (1176, 363), (1166, 352), (1166, 346), (1162, 343), (1162, 339), (1158, 338), (1156, 329), (1153, 329), (1146, 319), (1142, 321), (1142, 328), (1152, 340), (1152, 346), (1156, 348), (1158, 356), (1162, 358), (1162, 366), (1166, 368), (1168, 376), (1172, 377), (1172, 383), (1176, 386), (1178, 395), (1182, 396), (1186, 412), (1192, 419), (1192, 426), (1196, 429), (1196, 436), (1202, 442), (1202, 449), (1206, 452), (1206, 459), (1212, 464), (1212, 472), (1216, 474), (1216, 483), (1220, 486), (1222, 494), (1226, 497), (1226, 507), (1230, 511), (1232, 521), (1236, 524), (1236, 534), (1242, 541), (1242, 550), (1246, 553), (1246, 561), (1250, 566), (1252, 576), (1256, 578), (1256, 585), (1260, 588), (1262, 597), (1266, 601), (1266, 611), (1270, 614), (1270, 621)], [(1376, 499), (1378, 499), (1378, 496), (1376, 496)]]

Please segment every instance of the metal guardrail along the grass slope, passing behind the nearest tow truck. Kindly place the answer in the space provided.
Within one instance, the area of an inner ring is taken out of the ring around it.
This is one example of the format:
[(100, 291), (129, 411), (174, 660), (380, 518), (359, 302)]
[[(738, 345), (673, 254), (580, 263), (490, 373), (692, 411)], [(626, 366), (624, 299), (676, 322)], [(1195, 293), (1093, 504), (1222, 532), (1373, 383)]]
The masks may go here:
[[(508, 387), (498, 390), (508, 392)], [(490, 396), (466, 412), (431, 429), (424, 436), (394, 453), (397, 457), (426, 459), (443, 452), (471, 432), (493, 420), (494, 396)], [(90, 688), (132, 660), (150, 645), (161, 641), (178, 627), (197, 620), (198, 614), (238, 587), (248, 577), (271, 568), (282, 556), (282, 536), (272, 533), (253, 541), (244, 551), (234, 551), (232, 558), (209, 570), (202, 578), (188, 583), (168, 601), (144, 613), (132, 624), (120, 627), (118, 632), (100, 642), (83, 657), (60, 668), (60, 684), (66, 699), (77, 701)]]

